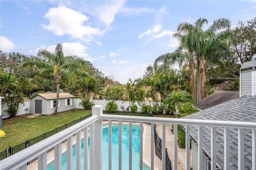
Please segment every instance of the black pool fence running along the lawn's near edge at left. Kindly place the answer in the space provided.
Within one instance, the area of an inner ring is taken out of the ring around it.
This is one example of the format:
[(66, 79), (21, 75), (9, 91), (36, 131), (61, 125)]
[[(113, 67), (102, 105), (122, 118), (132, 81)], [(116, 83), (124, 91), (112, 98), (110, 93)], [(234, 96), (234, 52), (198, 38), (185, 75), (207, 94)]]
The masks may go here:
[(8, 148), (8, 155), (7, 155), (7, 149), (2, 151), (2, 152), (0, 152), (0, 160), (6, 158), (7, 156), (11, 156), (12, 154), (15, 154), (15, 153), (17, 153), (17, 152), (27, 148), (28, 146), (36, 144), (37, 142), (40, 142), (41, 140), (44, 140), (44, 139), (46, 139), (46, 138), (48, 138), (48, 137), (50, 137), (50, 136), (52, 136), (52, 135), (54, 135), (54, 134), (64, 130), (66, 128), (69, 128), (72, 125), (75, 125), (76, 123), (79, 123), (79, 122), (81, 122), (81, 121), (83, 121), (83, 120), (85, 120), (85, 119), (87, 119), (88, 117), (91, 117), (91, 116), (92, 116), (92, 113), (89, 114), (89, 115), (86, 115), (84, 117), (80, 117), (79, 119), (76, 119), (76, 120), (74, 120), (74, 121), (72, 121), (70, 123), (66, 123), (65, 125), (62, 125), (61, 127), (57, 127), (57, 128), (55, 128), (55, 129), (53, 129), (53, 130), (51, 130), (49, 132), (41, 134), (40, 136), (37, 136), (37, 137), (32, 138), (30, 140), (27, 140), (26, 142), (18, 144), (18, 145), (14, 146), (14, 147), (9, 146), (9, 148)]

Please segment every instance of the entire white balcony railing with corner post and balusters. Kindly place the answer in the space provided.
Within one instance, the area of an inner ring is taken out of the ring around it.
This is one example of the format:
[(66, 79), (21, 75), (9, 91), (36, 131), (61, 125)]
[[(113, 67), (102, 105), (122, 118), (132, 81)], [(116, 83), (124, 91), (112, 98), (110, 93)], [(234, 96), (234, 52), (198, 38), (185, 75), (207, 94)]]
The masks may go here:
[[(77, 123), (76, 125), (69, 127), (53, 136), (46, 138), (4, 160), (0, 161), (1, 170), (26, 170), (27, 162), (38, 158), (38, 169), (47, 169), (47, 151), (54, 147), (54, 169), (61, 169), (61, 156), (62, 156), (62, 142), (67, 141), (67, 167), (66, 169), (72, 169), (72, 147), (73, 147), (73, 135), (76, 134), (76, 169), (81, 169), (81, 138), (82, 130), (84, 130), (83, 138), (88, 138), (88, 127), (90, 126), (90, 167), (88, 167), (88, 140), (84, 142), (84, 169), (101, 170), (102, 167), (102, 122), (108, 120), (109, 127), (112, 127), (112, 121), (118, 121), (119, 129), (122, 126), (122, 121), (129, 122), (129, 133), (132, 131), (132, 122), (140, 123), (140, 170), (143, 165), (143, 153), (142, 153), (142, 127), (143, 123), (151, 123), (151, 161), (150, 167), (154, 169), (154, 123), (161, 123), (162, 126), (162, 148), (165, 148), (165, 131), (166, 124), (174, 124), (174, 155), (172, 165), (174, 170), (178, 169), (177, 165), (177, 125), (184, 125), (186, 128), (186, 156), (185, 164), (186, 170), (190, 170), (190, 126), (198, 126), (198, 169), (202, 169), (203, 155), (200, 154), (203, 151), (202, 148), (202, 127), (211, 127), (211, 167), (216, 167), (216, 127), (224, 127), (224, 169), (230, 167), (230, 151), (229, 151), (229, 128), (238, 128), (238, 169), (244, 168), (244, 128), (252, 129), (252, 169), (256, 169), (256, 123), (250, 122), (231, 122), (231, 121), (206, 121), (206, 120), (192, 120), (192, 119), (168, 119), (168, 118), (156, 118), (156, 117), (136, 117), (136, 116), (119, 116), (119, 115), (103, 115), (102, 106), (92, 107), (92, 117)], [(111, 128), (110, 128), (111, 129)], [(119, 136), (122, 136), (122, 130), (119, 130)], [(108, 153), (108, 169), (112, 169), (112, 132), (109, 131), (109, 148)], [(119, 149), (118, 149), (118, 162), (119, 169), (122, 165), (122, 138), (119, 137)], [(132, 145), (132, 135), (129, 134), (129, 146)], [(165, 157), (166, 152), (162, 151), (162, 169), (165, 169)], [(106, 167), (105, 167), (106, 168)], [(132, 169), (132, 147), (129, 147), (129, 169)], [(216, 169), (216, 168), (212, 168)]]

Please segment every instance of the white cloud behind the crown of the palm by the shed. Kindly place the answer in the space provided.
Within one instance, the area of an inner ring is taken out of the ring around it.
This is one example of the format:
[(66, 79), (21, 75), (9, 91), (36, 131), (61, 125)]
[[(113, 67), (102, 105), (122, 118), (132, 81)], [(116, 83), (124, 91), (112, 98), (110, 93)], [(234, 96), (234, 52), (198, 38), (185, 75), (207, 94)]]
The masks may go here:
[[(34, 50), (29, 50), (31, 54), (36, 55), (38, 53), (39, 49), (47, 49), (51, 53), (55, 52), (56, 45), (49, 45), (46, 47), (46, 45), (42, 45)], [(87, 47), (85, 45), (82, 45), (81, 43), (78, 42), (64, 42), (62, 43), (62, 50), (64, 55), (76, 55), (78, 57), (83, 57), (84, 59), (88, 61), (93, 61), (92, 58), (89, 57), (89, 54), (86, 53)]]

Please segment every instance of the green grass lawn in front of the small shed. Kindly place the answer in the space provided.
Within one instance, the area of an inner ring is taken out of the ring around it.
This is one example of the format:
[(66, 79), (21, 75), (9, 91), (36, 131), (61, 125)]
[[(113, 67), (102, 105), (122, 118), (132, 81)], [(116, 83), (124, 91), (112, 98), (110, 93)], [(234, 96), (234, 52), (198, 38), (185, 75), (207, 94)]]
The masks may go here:
[(90, 113), (92, 113), (91, 110), (74, 109), (58, 113), (57, 115), (27, 118), (30, 115), (28, 114), (3, 120), (2, 130), (6, 135), (0, 138), (0, 151), (7, 149), (9, 146), (13, 147), (26, 140), (35, 138)]

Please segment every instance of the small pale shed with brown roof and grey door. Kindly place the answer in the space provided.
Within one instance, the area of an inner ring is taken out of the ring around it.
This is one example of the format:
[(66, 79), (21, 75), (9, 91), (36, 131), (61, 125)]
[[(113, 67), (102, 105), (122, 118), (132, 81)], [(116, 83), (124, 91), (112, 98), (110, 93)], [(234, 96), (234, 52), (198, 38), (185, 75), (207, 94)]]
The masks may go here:
[[(30, 98), (30, 113), (51, 115), (55, 111), (57, 93), (38, 93)], [(74, 96), (70, 93), (59, 93), (58, 112), (74, 109)]]

